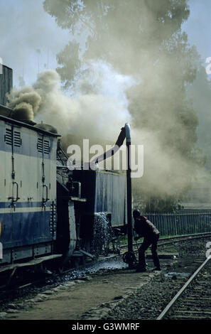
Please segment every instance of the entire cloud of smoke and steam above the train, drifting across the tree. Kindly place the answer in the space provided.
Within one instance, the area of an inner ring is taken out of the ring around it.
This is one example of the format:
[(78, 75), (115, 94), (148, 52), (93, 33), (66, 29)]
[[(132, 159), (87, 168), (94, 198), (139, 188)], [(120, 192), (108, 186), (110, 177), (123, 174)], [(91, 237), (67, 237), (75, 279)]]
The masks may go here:
[[(144, 177), (134, 185), (150, 199), (180, 198), (199, 166), (198, 119), (185, 98), (197, 58), (180, 33), (189, 14), (186, 2), (45, 0), (45, 10), (75, 38), (90, 26), (92, 31), (80, 48), (75, 41), (58, 55), (63, 84), (75, 80), (71, 95), (60, 89), (57, 72), (41, 72), (33, 87), (9, 95), (16, 118), (51, 124), (63, 136), (113, 143), (130, 122), (132, 143), (144, 145)], [(83, 26), (85, 18), (90, 25)]]

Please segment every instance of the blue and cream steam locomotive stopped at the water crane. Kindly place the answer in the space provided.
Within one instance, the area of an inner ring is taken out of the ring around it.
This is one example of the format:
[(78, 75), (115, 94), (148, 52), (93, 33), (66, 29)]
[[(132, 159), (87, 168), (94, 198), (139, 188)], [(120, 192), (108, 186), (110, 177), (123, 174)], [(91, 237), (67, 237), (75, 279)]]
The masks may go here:
[(3, 70), (0, 276), (9, 283), (21, 269), (94, 257), (94, 224), (102, 212), (112, 237), (117, 237), (126, 224), (126, 176), (98, 169), (70, 171), (52, 126), (16, 120), (13, 110), (2, 105), (4, 89), (11, 89), (4, 80), (11, 69)]

